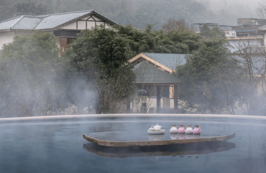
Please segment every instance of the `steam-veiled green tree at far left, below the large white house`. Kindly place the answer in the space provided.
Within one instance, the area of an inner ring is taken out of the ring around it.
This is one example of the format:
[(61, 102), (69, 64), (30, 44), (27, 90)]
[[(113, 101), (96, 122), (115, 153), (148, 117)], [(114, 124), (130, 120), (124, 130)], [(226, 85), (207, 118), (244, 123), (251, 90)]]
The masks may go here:
[(64, 66), (52, 33), (16, 35), (0, 59), (1, 117), (60, 114), (65, 100)]

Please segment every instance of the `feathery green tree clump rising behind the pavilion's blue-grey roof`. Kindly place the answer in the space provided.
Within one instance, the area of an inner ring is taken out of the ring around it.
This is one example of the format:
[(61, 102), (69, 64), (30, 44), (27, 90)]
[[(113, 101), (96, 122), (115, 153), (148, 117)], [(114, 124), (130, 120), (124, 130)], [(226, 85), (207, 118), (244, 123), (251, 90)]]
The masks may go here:
[(130, 25), (119, 25), (118, 33), (129, 40), (134, 55), (141, 52), (189, 54), (200, 47), (201, 36), (192, 30), (152, 30), (147, 25), (145, 30), (135, 29)]

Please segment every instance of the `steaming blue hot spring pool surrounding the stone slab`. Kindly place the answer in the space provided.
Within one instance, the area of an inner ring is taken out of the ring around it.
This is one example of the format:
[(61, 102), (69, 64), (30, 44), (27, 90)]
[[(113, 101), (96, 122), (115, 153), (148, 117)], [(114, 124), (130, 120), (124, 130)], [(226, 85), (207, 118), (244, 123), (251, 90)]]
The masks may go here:
[[(1, 119), (0, 172), (266, 172), (265, 117), (148, 114), (65, 117)], [(196, 157), (158, 154), (134, 157), (133, 153), (127, 158), (108, 157), (108, 153), (102, 157), (84, 148), (84, 144), (92, 145), (83, 139), (84, 133), (146, 130), (156, 123), (168, 136), (171, 124), (199, 124), (202, 131), (214, 128), (235, 132), (236, 137), (227, 141), (234, 147)]]

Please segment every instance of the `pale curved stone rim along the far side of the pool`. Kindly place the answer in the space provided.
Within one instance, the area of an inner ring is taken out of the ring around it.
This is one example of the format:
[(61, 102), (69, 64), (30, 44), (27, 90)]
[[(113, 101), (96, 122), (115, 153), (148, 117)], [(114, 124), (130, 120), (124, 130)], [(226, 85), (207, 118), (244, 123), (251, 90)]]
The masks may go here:
[(224, 118), (224, 119), (266, 120), (266, 116), (225, 115), (225, 114), (85, 114), (85, 115), (55, 115), (55, 116), (0, 118), (0, 122), (82, 119), (82, 118)]

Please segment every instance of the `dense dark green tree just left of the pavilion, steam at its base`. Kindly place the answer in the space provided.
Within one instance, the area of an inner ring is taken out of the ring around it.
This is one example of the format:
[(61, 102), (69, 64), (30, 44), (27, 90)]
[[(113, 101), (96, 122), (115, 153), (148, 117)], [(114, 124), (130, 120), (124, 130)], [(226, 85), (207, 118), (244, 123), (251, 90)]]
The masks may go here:
[[(131, 84), (134, 82), (132, 66), (128, 64), (128, 60), (132, 57), (128, 40), (113, 29), (104, 28), (104, 26), (96, 26), (93, 30), (84, 30), (82, 35), (83, 37), (76, 39), (65, 55), (70, 61), (69, 97), (72, 103), (77, 105), (78, 114), (83, 114), (83, 108), (86, 106), (93, 106), (99, 113), (115, 112), (114, 107), (112, 107), (113, 109), (106, 107), (106, 109), (102, 109), (102, 85), (107, 85), (106, 82), (108, 85), (110, 84), (110, 81), (105, 80), (106, 77), (116, 82), (127, 80)], [(132, 77), (121, 76), (120, 73), (131, 74), (129, 76)], [(123, 80), (121, 77), (124, 77)], [(101, 86), (94, 86), (95, 83), (101, 84)], [(128, 84), (127, 86), (128, 88), (125, 90), (129, 90), (132, 85)], [(114, 96), (116, 93), (112, 92), (112, 94)], [(96, 105), (93, 104), (93, 100), (96, 100)], [(114, 100), (113, 103), (115, 103)], [(106, 103), (106, 100), (104, 101)], [(121, 100), (118, 99), (117, 102), (119, 101)]]

